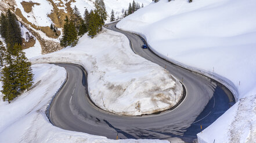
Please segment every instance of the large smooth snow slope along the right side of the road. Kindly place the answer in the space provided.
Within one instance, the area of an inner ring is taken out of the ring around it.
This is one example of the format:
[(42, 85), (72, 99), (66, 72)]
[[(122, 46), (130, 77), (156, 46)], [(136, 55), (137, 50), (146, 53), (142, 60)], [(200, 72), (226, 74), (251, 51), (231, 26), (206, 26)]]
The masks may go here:
[(255, 7), (254, 0), (160, 0), (117, 25), (146, 36), (163, 57), (225, 81), (235, 93), (235, 106), (198, 134), (200, 142), (256, 137)]

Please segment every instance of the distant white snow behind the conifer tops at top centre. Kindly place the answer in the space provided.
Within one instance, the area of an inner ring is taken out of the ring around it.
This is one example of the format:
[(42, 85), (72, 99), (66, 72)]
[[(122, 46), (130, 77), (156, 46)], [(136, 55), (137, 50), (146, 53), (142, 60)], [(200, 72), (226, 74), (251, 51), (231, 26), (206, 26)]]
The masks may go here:
[[(93, 2), (95, 0), (76, 0), (75, 2), (71, 3), (71, 7), (77, 6), (78, 10), (80, 11), (81, 15), (84, 16), (85, 8), (90, 12), (91, 9), (94, 8)], [(115, 12), (115, 17), (121, 17), (122, 16), (122, 9), (127, 10), (129, 7), (129, 3), (132, 3), (133, 0), (104, 0), (107, 14), (111, 15), (111, 10), (113, 9)], [(140, 6), (143, 5), (149, 5), (149, 3), (152, 2), (152, 0), (135, 0), (135, 2), (138, 2)]]

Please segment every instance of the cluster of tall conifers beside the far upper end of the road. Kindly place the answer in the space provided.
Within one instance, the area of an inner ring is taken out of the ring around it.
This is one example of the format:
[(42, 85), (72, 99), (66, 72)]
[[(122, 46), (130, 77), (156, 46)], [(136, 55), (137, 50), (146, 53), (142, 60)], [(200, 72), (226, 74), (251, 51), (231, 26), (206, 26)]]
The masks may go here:
[(74, 47), (78, 43), (78, 37), (88, 32), (88, 36), (95, 37), (102, 31), (102, 27), (107, 20), (106, 6), (103, 0), (94, 2), (94, 10), (88, 12), (85, 9), (84, 18), (77, 9), (77, 6), (71, 11), (70, 16), (66, 16), (63, 28), (63, 37), (60, 39), (60, 45), (63, 47)]

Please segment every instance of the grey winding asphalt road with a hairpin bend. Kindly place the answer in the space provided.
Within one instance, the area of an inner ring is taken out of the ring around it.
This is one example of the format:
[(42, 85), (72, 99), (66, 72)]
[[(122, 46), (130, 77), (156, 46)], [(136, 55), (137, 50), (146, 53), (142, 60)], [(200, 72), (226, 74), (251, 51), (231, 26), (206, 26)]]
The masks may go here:
[(196, 134), (209, 126), (228, 110), (233, 97), (222, 85), (209, 78), (191, 73), (157, 57), (149, 50), (141, 48), (143, 40), (139, 36), (115, 28), (116, 23), (107, 28), (124, 33), (132, 43), (132, 49), (143, 58), (165, 67), (186, 88), (185, 99), (171, 111), (147, 116), (119, 116), (100, 110), (88, 97), (86, 72), (78, 65), (59, 63), (67, 70), (66, 84), (51, 104), (49, 117), (53, 125), (62, 129), (105, 136), (107, 138), (158, 138), (168, 140), (179, 137), (192, 142)]

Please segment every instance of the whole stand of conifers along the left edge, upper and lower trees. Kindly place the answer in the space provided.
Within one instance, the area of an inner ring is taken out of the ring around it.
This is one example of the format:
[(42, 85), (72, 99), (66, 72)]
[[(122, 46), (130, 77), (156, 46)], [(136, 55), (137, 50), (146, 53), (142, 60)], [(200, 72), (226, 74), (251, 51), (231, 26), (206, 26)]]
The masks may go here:
[(15, 14), (10, 10), (6, 14), (1, 13), (0, 24), (0, 34), (6, 43), (3, 46), (0, 40), (0, 66), (3, 67), (1, 92), (3, 101), (10, 103), (32, 86), (33, 73), (31, 63), (21, 48), (20, 24)]

